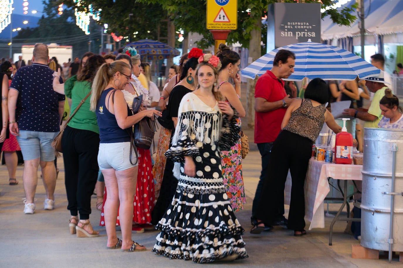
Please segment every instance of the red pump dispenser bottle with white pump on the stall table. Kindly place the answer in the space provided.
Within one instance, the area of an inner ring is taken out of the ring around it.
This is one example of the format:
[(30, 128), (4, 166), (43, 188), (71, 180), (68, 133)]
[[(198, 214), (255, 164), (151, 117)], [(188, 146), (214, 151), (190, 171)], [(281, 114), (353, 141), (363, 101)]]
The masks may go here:
[(336, 164), (351, 164), (353, 162), (353, 135), (347, 132), (346, 121), (349, 118), (343, 118), (343, 128), (336, 135), (336, 155), (334, 162)]

